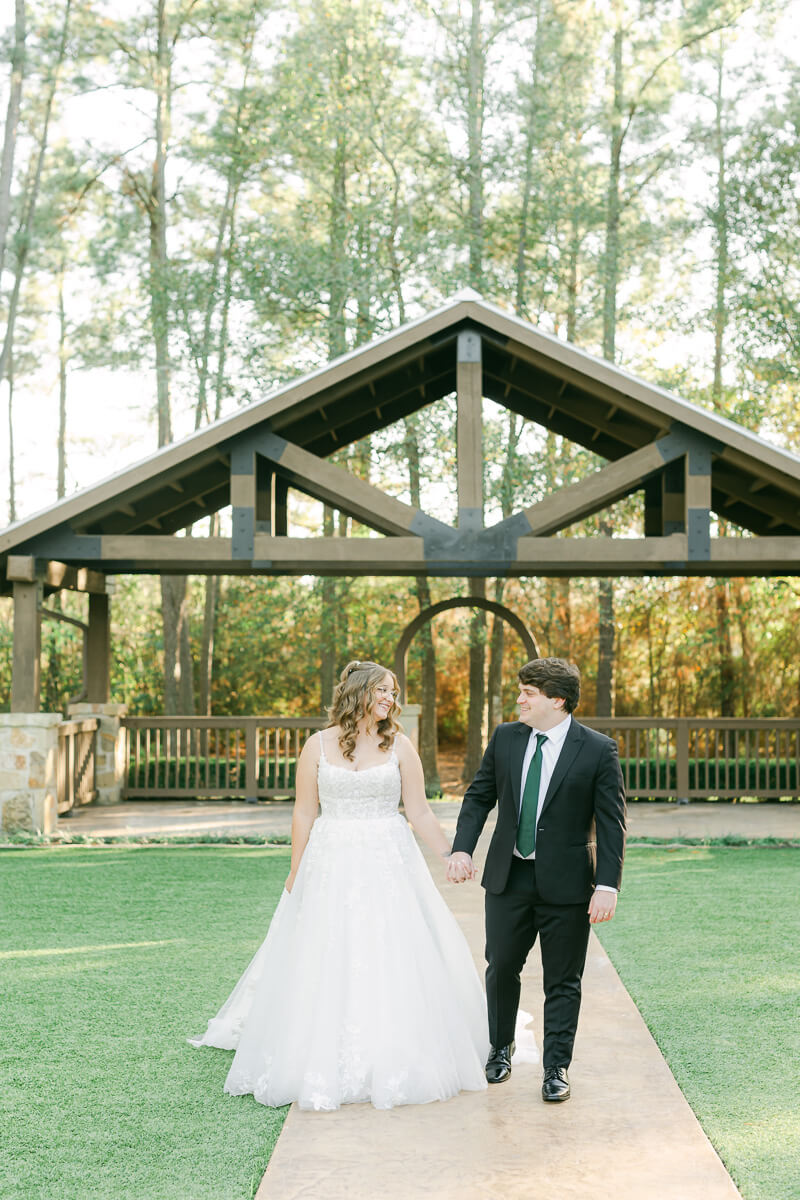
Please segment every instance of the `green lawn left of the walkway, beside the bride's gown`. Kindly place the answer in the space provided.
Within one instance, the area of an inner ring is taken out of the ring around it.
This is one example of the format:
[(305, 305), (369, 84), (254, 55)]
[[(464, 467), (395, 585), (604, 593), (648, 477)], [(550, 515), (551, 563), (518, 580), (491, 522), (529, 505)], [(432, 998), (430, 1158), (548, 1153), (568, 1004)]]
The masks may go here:
[(243, 1200), (285, 1110), (193, 1049), (264, 937), (285, 850), (0, 851), (0, 1195)]

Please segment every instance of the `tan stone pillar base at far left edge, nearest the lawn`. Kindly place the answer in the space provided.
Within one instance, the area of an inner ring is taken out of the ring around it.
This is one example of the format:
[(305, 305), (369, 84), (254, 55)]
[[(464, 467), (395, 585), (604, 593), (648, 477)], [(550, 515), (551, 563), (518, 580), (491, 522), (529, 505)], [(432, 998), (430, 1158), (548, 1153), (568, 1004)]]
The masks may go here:
[(0, 713), (0, 836), (53, 833), (60, 713)]

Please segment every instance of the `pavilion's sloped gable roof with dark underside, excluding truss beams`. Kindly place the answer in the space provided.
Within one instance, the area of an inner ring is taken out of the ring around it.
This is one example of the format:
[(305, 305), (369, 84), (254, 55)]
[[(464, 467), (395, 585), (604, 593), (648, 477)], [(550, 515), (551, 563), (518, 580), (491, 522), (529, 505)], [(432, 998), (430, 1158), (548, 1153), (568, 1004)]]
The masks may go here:
[(612, 462), (675, 428), (711, 439), (714, 510), (753, 533), (800, 533), (800, 457), (470, 292), (7, 527), (0, 566), (50, 530), (168, 534), (224, 508), (242, 434), (269, 431), (324, 458), (420, 410), (456, 390), (467, 330), (481, 337), (486, 397)]

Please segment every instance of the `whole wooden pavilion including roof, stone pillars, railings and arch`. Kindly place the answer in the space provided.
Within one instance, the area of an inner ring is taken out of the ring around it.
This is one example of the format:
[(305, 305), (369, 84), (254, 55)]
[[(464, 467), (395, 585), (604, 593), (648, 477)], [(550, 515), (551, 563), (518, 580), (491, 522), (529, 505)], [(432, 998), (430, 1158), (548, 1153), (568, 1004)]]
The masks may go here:
[[(457, 398), (453, 524), (403, 504), (330, 461), (339, 448), (450, 395)], [(606, 464), (487, 527), (483, 397), (595, 451)], [(291, 490), (348, 514), (361, 526), (359, 536), (290, 536)], [(640, 536), (559, 536), (575, 522), (634, 492), (644, 497)], [(228, 506), (230, 536), (179, 534)], [(715, 514), (746, 535), (712, 536)], [(143, 719), (126, 719), (125, 706), (109, 703), (108, 576), (150, 572), (799, 574), (800, 458), (543, 334), (475, 293), (462, 293), (0, 533), (0, 593), (13, 595), (14, 613), (11, 712), (0, 714), (0, 829), (47, 833), (55, 827), (59, 811), (80, 802), (74, 799), (79, 792), (83, 802), (98, 798), (112, 803), (130, 794), (131, 779), (139, 778), (140, 770), (148, 775), (150, 751), (145, 749), (144, 762), (139, 760), (140, 738), (145, 738), (145, 748), (150, 745), (150, 733), (138, 728)], [(74, 720), (67, 722), (61, 714), (40, 712), (40, 628), (43, 614), (53, 616), (43, 607), (43, 599), (61, 588), (89, 593), (88, 624), (62, 617), (82, 625), (85, 635), (85, 698), (71, 704)], [(445, 606), (464, 602), (453, 599)], [(440, 607), (420, 614), (417, 624)], [(512, 624), (516, 620), (507, 611), (501, 616)], [(401, 673), (415, 628), (413, 623), (398, 643)], [(528, 641), (534, 644), (524, 628), (517, 632), (527, 646)], [(281, 733), (269, 727), (285, 721), (246, 718), (239, 724), (247, 727), (234, 731), (236, 719), (216, 718), (216, 732), (201, 732), (192, 726), (198, 721), (201, 719), (160, 718), (154, 733), (156, 757), (163, 733), (163, 742), (190, 748), (197, 748), (198, 737), (205, 745), (215, 739), (219, 745), (227, 738), (234, 748), (233, 760), (222, 768), (217, 762), (216, 781), (209, 774), (204, 780), (187, 775), (182, 791), (172, 785), (160, 791), (151, 784), (146, 794), (218, 794), (221, 787), (230, 790), (231, 778), (239, 780), (237, 787), (243, 786), (243, 793), (235, 794), (287, 794), (289, 738), (294, 738), (296, 754), (300, 726), (307, 732), (319, 724), (305, 719)], [(673, 774), (654, 784), (640, 778), (646, 755), (642, 757), (639, 737), (646, 740), (649, 734), (639, 726), (648, 721), (630, 719), (627, 734), (610, 725), (607, 730), (632, 739), (626, 751), (631, 794), (642, 786), (646, 794), (681, 797), (709, 794), (709, 787), (720, 796), (741, 794), (742, 787), (747, 794), (753, 788), (763, 796), (794, 794), (800, 787), (800, 722), (777, 722), (781, 730), (771, 727), (776, 722), (750, 722), (759, 730), (748, 726), (738, 732), (721, 726), (742, 722), (696, 722), (708, 726), (697, 737), (705, 737), (705, 760), (710, 762), (712, 756), (716, 763), (712, 770), (706, 769), (708, 779), (702, 784), (690, 778), (690, 721), (660, 720), (661, 732), (648, 744), (663, 749), (666, 737), (674, 762), (663, 764), (663, 770)], [(181, 724), (186, 726), (182, 730)], [(760, 730), (762, 725), (770, 730)], [(729, 774), (730, 755), (738, 754), (730, 739), (736, 737), (744, 737), (746, 758), (754, 764), (745, 764), (751, 772), (747, 782), (742, 782), (745, 776)], [(786, 742), (789, 737), (794, 738), (792, 751)], [(242, 738), (247, 743), (243, 775)], [(270, 745), (284, 748), (282, 767), (266, 749), (270, 738)], [(709, 739), (716, 739), (712, 750)], [(193, 761), (199, 763), (197, 754)], [(769, 779), (752, 774), (763, 762), (768, 774), (772, 772)], [(66, 798), (65, 780), (67, 791), (72, 788)], [(138, 794), (144, 794), (142, 785)]]

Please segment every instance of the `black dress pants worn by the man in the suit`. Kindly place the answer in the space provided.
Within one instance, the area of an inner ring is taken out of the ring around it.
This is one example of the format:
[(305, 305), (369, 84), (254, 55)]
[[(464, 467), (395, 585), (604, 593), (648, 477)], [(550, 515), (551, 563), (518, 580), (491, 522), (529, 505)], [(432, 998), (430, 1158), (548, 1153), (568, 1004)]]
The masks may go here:
[(588, 901), (545, 904), (536, 888), (535, 859), (512, 858), (505, 890), (486, 893), (486, 998), (493, 1046), (513, 1040), (519, 972), (539, 936), (545, 984), (542, 1066), (570, 1066), (589, 943), (588, 907)]

